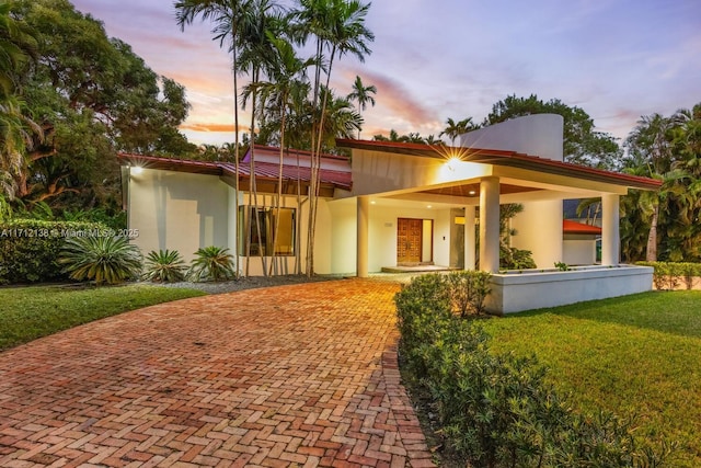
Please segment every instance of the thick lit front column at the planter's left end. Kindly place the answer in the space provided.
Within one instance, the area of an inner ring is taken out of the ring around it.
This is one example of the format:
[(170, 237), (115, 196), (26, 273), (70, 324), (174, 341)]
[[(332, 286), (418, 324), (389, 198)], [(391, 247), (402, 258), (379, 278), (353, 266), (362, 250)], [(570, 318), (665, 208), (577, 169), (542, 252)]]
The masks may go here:
[(480, 270), (499, 271), (499, 178), (480, 183)]

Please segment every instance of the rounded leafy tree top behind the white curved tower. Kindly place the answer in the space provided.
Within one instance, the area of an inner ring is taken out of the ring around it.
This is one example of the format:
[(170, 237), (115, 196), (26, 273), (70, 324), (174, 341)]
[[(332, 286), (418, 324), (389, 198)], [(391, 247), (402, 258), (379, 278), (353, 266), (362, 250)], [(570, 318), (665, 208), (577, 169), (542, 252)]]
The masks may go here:
[(548, 102), (536, 94), (529, 98), (506, 96), (492, 106), (483, 125), (493, 125), (531, 114), (559, 114), (564, 118), (564, 160), (593, 168), (616, 170), (622, 150), (610, 134), (595, 130), (594, 121), (584, 110), (564, 104), (559, 99)]

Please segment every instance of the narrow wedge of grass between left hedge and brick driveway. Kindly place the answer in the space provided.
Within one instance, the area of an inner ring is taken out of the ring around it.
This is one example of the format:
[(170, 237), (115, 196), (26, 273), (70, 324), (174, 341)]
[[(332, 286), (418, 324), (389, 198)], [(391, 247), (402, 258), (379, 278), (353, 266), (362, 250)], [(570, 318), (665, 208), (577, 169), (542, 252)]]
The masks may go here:
[(127, 310), (202, 295), (193, 289), (140, 284), (0, 288), (0, 350)]

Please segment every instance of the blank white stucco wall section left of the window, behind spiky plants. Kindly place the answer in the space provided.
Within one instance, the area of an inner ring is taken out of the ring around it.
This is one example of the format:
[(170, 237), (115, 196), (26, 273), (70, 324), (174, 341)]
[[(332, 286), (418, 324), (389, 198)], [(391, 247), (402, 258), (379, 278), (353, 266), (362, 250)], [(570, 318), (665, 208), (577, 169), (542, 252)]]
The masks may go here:
[(143, 254), (177, 250), (186, 261), (197, 249), (229, 246), (229, 187), (218, 176), (143, 169), (129, 175), (128, 225)]

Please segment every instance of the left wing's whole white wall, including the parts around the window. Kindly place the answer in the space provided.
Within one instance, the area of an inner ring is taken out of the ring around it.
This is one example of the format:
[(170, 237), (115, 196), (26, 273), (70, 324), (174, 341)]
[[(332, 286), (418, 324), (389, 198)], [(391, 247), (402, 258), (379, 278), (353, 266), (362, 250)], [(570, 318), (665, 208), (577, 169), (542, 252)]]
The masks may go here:
[[(248, 194), (239, 196), (239, 206), (253, 203)], [(275, 196), (258, 194), (257, 206), (274, 206)], [(283, 197), (283, 206), (298, 208), (295, 196)], [(174, 171), (145, 169), (129, 178), (128, 225), (138, 229), (134, 243), (146, 254), (151, 250), (177, 250), (186, 262), (202, 247), (217, 246), (237, 251), (235, 191), (217, 175), (191, 174)], [(298, 209), (301, 219), (300, 262), (304, 272), (309, 203)], [(355, 218), (353, 218), (355, 225)], [(319, 201), (314, 271), (320, 274), (334, 272), (332, 266), (332, 215), (329, 202)], [(340, 228), (342, 229), (342, 228)], [(355, 243), (353, 243), (355, 249)], [(346, 249), (347, 250), (347, 249)], [(239, 271), (251, 276), (263, 275), (260, 256), (251, 256), (248, 264), (244, 252), (239, 252)], [(355, 256), (353, 256), (355, 261)], [(294, 274), (295, 255), (276, 258), (277, 274)], [(266, 258), (269, 267), (271, 258)]]

